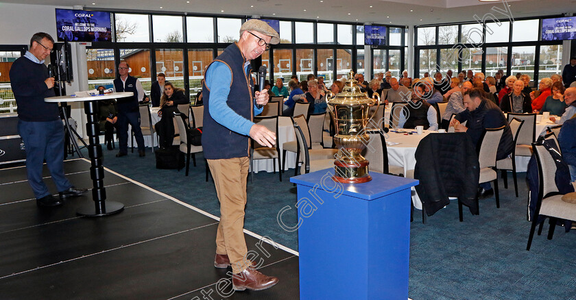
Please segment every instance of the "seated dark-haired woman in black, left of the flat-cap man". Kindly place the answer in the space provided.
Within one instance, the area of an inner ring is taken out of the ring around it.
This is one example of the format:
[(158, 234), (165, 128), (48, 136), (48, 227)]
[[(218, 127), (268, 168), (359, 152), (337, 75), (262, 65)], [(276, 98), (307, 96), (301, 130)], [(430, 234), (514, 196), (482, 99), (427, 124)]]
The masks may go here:
[(174, 88), (171, 82), (165, 82), (164, 93), (160, 97), (160, 110), (158, 111), (158, 116), (161, 118), (154, 125), (160, 140), (160, 148), (172, 145), (174, 140), (174, 112), (180, 112), (178, 104), (190, 104), (190, 100), (186, 98), (182, 88)]

